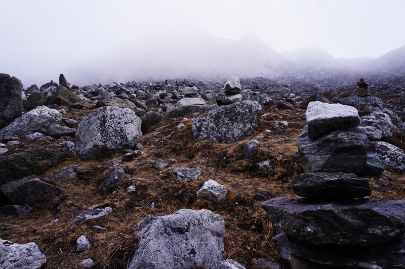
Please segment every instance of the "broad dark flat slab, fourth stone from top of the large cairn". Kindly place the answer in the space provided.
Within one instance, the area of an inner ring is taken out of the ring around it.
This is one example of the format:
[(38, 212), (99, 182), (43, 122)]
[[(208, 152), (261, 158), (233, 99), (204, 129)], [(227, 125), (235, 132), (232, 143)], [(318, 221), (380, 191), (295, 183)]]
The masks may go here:
[(401, 238), (405, 232), (405, 201), (277, 197), (261, 205), (289, 240), (306, 245), (376, 245)]

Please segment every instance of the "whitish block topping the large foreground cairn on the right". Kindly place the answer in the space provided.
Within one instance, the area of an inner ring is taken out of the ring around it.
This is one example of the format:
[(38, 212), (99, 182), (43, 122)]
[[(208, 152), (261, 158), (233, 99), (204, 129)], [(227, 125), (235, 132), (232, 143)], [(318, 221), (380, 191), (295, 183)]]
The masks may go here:
[(319, 101), (308, 104), (305, 117), (310, 139), (331, 131), (356, 127), (360, 123), (360, 117), (354, 107)]

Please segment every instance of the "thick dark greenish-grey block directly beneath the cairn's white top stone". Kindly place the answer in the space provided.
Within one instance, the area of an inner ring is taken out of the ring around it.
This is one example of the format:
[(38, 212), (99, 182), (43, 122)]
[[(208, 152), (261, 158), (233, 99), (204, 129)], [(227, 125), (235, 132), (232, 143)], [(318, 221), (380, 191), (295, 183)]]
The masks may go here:
[(306, 173), (346, 172), (363, 176), (384, 172), (384, 165), (371, 149), (366, 134), (357, 128), (336, 130), (312, 140), (305, 126), (297, 145)]

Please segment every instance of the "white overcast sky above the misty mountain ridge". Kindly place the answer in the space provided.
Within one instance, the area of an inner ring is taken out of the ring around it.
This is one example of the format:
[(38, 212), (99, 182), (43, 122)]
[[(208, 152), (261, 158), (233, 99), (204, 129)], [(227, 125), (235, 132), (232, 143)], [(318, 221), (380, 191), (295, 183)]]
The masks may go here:
[(403, 0), (0, 0), (0, 72), (28, 83), (56, 69), (57, 80), (59, 67), (120, 43), (194, 30), (233, 39), (251, 32), (278, 52), (376, 57), (405, 45), (404, 11)]

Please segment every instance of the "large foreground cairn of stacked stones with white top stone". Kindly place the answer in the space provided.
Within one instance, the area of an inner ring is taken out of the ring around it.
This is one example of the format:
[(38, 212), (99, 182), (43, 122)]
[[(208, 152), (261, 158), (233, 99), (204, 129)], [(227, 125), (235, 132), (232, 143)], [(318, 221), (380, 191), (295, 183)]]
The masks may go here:
[[(403, 268), (405, 201), (369, 198), (367, 178), (384, 171), (357, 110), (311, 102), (298, 140), (305, 173), (292, 178), (299, 198), (262, 203), (277, 229), (281, 259), (297, 268)], [(282, 232), (281, 232), (282, 230)]]

